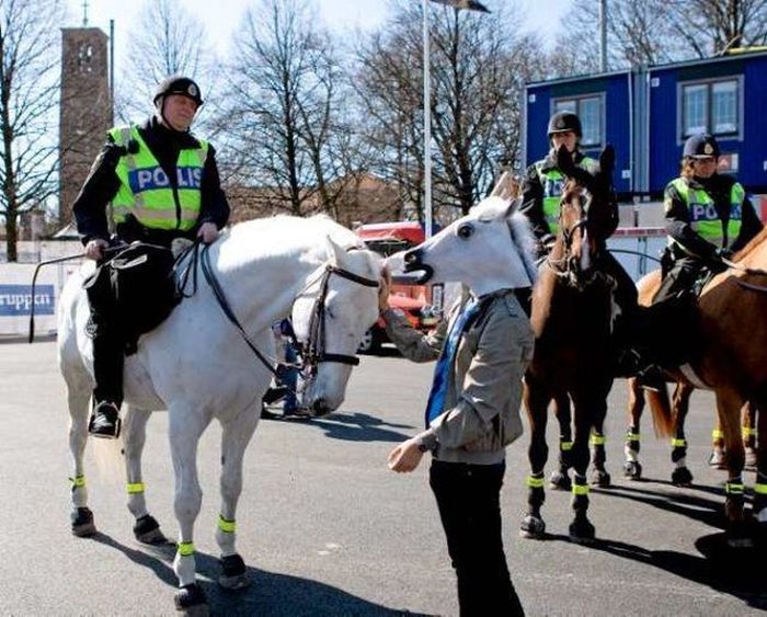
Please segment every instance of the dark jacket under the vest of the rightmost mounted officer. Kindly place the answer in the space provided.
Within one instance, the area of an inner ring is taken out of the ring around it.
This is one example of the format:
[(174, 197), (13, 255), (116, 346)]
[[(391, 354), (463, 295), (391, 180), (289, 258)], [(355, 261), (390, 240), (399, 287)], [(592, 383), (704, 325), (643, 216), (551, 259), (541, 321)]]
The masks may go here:
[[(730, 220), (730, 194), (732, 185), (735, 182), (735, 179), (730, 175), (714, 173), (711, 178), (690, 180), (690, 187), (703, 188), (711, 196), (720, 220), (726, 225)], [(684, 249), (691, 253), (691, 256), (703, 260), (716, 258), (719, 247), (714, 247), (711, 242), (705, 240), (692, 230), (687, 204), (673, 183), (666, 186), (663, 203), (666, 214), (666, 233), (668, 237), (682, 244)], [(732, 252), (741, 250), (762, 230), (762, 222), (748, 196), (743, 199), (741, 212), (741, 232), (730, 247)], [(675, 247), (673, 243), (671, 250), (673, 258), (690, 256), (682, 248)]]

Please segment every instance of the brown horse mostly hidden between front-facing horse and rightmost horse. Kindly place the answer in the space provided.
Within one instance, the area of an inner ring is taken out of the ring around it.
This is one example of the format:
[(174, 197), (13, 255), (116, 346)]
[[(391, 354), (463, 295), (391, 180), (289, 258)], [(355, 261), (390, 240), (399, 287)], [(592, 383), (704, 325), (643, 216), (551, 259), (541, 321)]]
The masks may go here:
[[(661, 271), (655, 270), (643, 276), (637, 283), (639, 292), (639, 304), (650, 306), (652, 299), (661, 286)], [(642, 465), (639, 462), (640, 449), (640, 420), (644, 410), (644, 399), (648, 397), (667, 397), (667, 393), (656, 393), (652, 390), (648, 391), (641, 387), (636, 378), (628, 379), (629, 387), (629, 403), (628, 415), (629, 426), (626, 431), (626, 462), (623, 464), (623, 475), (630, 480), (639, 480), (642, 477)], [(692, 482), (692, 473), (687, 467), (687, 438), (685, 437), (685, 420), (689, 411), (689, 399), (695, 388), (688, 381), (675, 382), (674, 393), (672, 395), (672, 419), (673, 429), (671, 435), (672, 445), (672, 462), (674, 471), (672, 472), (672, 482), (677, 485), (689, 485)], [(756, 409), (751, 403), (746, 403), (743, 408), (743, 445), (746, 452), (746, 466), (756, 466), (756, 439), (755, 439), (755, 420)], [(720, 469), (725, 468), (724, 464), (724, 439), (722, 430), (717, 422), (717, 427), (712, 432), (713, 444), (712, 453), (709, 462)]]

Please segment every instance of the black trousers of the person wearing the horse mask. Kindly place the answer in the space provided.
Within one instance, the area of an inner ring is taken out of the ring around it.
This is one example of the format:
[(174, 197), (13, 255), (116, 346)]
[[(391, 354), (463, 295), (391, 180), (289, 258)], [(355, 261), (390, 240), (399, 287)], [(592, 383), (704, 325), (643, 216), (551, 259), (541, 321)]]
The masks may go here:
[(461, 617), (524, 615), (506, 565), (501, 536), (505, 464), (434, 460), (430, 484), (458, 578)]

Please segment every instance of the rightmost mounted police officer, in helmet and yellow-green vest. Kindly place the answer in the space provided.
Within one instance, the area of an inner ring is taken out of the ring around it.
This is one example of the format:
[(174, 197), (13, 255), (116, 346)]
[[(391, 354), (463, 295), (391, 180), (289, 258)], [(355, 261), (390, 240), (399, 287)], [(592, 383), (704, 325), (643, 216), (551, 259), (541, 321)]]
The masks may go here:
[(654, 304), (692, 294), (703, 268), (723, 272), (722, 258), (732, 256), (762, 230), (743, 186), (717, 173), (719, 157), (711, 135), (694, 135), (685, 142), (682, 173), (664, 194), (668, 248)]

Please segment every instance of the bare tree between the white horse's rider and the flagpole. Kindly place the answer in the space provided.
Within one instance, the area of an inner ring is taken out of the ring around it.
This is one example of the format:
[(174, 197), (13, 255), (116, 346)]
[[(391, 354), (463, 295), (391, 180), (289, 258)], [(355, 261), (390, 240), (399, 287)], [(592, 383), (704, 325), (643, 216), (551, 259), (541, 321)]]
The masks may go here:
[(227, 84), (232, 181), (297, 216), (333, 212), (348, 161), (340, 61), (317, 23), (304, 0), (262, 0), (236, 36)]

